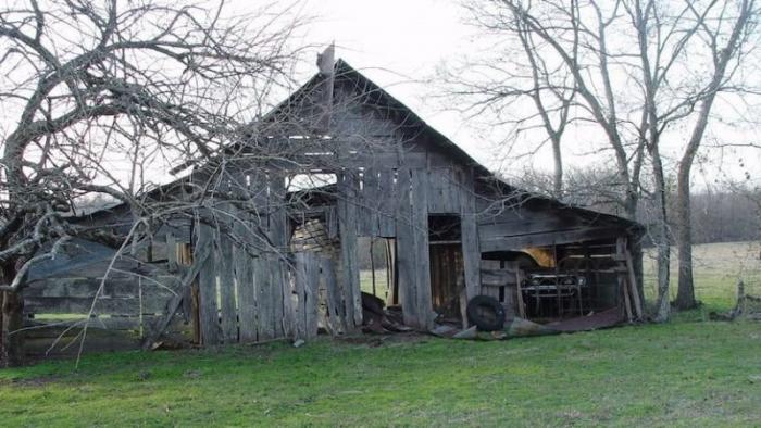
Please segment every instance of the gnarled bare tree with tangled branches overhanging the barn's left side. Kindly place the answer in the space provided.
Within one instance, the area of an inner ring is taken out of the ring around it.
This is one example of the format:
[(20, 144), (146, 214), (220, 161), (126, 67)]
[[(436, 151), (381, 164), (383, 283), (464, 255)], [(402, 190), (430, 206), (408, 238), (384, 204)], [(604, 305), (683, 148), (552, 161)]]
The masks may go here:
[[(2, 361), (23, 356), (23, 286), (73, 237), (85, 196), (135, 213), (134, 230), (176, 207), (145, 191), (167, 160), (212, 159), (290, 75), (289, 8), (230, 17), (222, 5), (149, 0), (7, 3), (0, 11)], [(125, 166), (126, 165), (126, 166)], [(195, 203), (202, 203), (196, 201)]]

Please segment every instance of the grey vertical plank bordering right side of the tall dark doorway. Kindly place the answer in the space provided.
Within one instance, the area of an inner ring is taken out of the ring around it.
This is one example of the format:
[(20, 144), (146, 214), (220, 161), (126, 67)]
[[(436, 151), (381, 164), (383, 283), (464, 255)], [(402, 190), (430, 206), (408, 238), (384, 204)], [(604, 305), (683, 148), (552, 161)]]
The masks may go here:
[(462, 261), (465, 270), (465, 293), (470, 301), (481, 293), (481, 250), (478, 248), (475, 182), (472, 168), (465, 172), (462, 182), (463, 187), (460, 192)]

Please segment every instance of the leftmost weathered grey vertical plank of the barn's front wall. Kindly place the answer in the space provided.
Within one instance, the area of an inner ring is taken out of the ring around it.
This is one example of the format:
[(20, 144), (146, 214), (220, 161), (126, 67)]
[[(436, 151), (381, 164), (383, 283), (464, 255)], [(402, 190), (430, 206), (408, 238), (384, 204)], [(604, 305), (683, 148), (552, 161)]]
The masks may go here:
[[(199, 223), (196, 229), (198, 230), (196, 254), (207, 246), (215, 247), (213, 242), (213, 231), (210, 226)], [(214, 254), (214, 252), (216, 252), (216, 248), (212, 249), (212, 254)], [(212, 255), (207, 257), (203, 267), (201, 267), (198, 274), (198, 289), (201, 343), (203, 343), (204, 347), (214, 347), (220, 344), (221, 326), (216, 306), (215, 257)]]

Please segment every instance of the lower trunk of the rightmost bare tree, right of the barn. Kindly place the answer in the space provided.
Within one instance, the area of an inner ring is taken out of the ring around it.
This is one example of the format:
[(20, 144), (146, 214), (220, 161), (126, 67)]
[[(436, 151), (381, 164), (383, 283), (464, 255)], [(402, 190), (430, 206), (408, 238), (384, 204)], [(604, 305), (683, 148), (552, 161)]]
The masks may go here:
[(689, 203), (689, 171), (679, 168), (676, 186), (676, 217), (678, 219), (677, 244), (679, 257), (679, 285), (676, 293), (676, 307), (688, 310), (696, 306), (695, 284), (693, 281), (693, 216)]

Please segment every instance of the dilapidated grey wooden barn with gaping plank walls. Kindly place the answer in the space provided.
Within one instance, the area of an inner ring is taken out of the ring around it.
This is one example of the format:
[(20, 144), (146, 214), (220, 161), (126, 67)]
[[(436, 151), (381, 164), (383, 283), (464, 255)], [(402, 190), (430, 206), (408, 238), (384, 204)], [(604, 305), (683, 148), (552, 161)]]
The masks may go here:
[[(147, 193), (154, 215), (77, 218), (133, 239), (33, 269), (29, 352), (78, 348), (85, 326), (85, 350), (425, 331), (466, 325), (482, 294), (541, 323), (641, 316), (639, 225), (513, 188), (332, 51), (319, 65), (246, 138)], [(367, 239), (384, 243), (378, 289), (361, 280)], [(387, 316), (367, 319), (371, 301)]]

